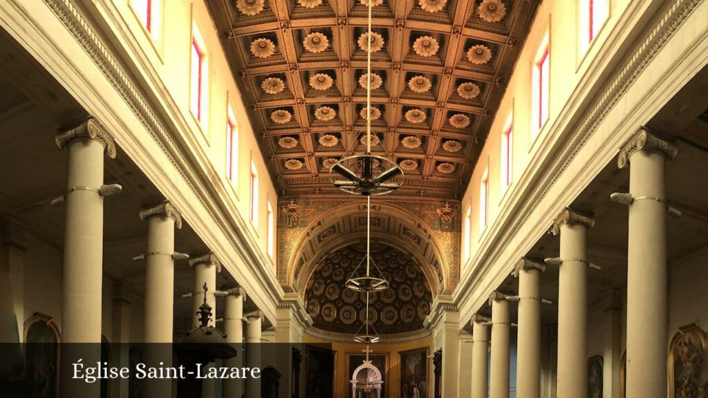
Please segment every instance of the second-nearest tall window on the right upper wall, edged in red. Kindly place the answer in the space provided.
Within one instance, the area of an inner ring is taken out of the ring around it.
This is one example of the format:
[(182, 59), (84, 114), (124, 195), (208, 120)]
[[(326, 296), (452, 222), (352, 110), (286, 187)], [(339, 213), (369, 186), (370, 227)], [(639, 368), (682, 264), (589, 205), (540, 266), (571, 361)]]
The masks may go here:
[(538, 132), (546, 124), (549, 113), (549, 95), (550, 95), (550, 52), (548, 33), (544, 35), (544, 39), (536, 52), (533, 67), (532, 79), (532, 137), (535, 138)]

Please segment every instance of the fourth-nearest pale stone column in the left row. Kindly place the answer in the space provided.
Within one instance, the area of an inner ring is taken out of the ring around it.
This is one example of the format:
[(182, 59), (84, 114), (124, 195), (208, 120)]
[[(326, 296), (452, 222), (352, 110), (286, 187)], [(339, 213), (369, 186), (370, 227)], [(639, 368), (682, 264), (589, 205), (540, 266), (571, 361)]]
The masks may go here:
[[(244, 301), (246, 294), (240, 287), (227, 290), (229, 295), (225, 297), (224, 305), (224, 334), (226, 342), (236, 347), (236, 357), (224, 360), (224, 366), (229, 368), (241, 368), (244, 363)], [(241, 379), (227, 378), (224, 380), (224, 398), (241, 398), (244, 392)]]

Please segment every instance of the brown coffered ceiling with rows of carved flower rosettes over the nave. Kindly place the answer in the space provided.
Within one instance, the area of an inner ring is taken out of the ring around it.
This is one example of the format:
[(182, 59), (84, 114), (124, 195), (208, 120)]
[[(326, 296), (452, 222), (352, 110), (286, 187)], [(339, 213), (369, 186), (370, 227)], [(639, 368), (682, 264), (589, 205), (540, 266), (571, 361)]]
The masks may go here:
[[(457, 198), (539, 1), (371, 1), (372, 152), (394, 195)], [(338, 192), (329, 167), (365, 151), (367, 0), (207, 4), (278, 189)]]

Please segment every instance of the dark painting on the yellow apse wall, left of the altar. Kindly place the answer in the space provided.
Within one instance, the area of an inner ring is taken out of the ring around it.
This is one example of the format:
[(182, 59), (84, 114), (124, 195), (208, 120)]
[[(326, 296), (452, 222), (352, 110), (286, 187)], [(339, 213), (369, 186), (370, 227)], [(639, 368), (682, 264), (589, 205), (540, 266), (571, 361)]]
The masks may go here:
[(307, 346), (307, 398), (334, 397), (336, 353), (330, 349)]

